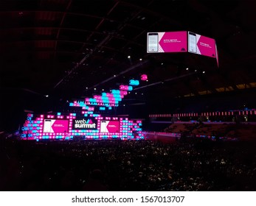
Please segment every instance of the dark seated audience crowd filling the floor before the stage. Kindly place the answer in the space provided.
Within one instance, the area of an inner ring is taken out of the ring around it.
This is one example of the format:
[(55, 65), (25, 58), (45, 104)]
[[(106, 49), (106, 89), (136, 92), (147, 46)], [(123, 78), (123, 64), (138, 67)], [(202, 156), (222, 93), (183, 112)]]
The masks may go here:
[(255, 191), (255, 143), (1, 141), (1, 191)]

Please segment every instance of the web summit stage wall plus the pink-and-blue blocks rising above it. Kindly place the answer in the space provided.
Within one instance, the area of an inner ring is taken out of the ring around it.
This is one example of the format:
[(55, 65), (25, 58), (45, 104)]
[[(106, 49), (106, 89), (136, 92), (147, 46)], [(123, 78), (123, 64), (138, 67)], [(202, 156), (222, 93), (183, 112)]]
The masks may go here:
[[(139, 85), (139, 80), (136, 79), (129, 82), (134, 82), (134, 86)], [(27, 120), (21, 128), (21, 138), (38, 141), (41, 139), (69, 140), (76, 137), (84, 139), (143, 139), (142, 121), (101, 115), (104, 110), (117, 107), (118, 103), (128, 94), (127, 91), (132, 89), (131, 85), (121, 85), (120, 90), (94, 95), (93, 98), (86, 98), (84, 101), (70, 102), (69, 107), (81, 108), (77, 113), (28, 114)], [(98, 113), (95, 113), (95, 107), (99, 107)]]

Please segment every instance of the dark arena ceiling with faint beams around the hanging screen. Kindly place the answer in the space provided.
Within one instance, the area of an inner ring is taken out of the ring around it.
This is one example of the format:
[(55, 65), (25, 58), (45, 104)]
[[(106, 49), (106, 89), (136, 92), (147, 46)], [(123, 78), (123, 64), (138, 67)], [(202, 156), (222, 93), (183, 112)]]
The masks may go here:
[[(1, 0), (1, 110), (54, 110), (49, 101), (83, 99), (141, 74), (148, 82), (127, 104), (252, 96), (255, 8), (244, 0)], [(220, 67), (197, 54), (147, 54), (147, 32), (172, 31), (214, 38)]]

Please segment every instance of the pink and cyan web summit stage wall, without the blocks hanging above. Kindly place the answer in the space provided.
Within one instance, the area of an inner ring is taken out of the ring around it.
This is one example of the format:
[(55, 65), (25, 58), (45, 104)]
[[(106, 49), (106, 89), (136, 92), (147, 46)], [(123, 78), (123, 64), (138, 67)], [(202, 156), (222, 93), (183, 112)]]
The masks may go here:
[(70, 113), (68, 116), (28, 114), (22, 127), (21, 138), (27, 140), (63, 139), (76, 136), (84, 139), (143, 139), (142, 121), (128, 118), (102, 117), (91, 114), (88, 118)]

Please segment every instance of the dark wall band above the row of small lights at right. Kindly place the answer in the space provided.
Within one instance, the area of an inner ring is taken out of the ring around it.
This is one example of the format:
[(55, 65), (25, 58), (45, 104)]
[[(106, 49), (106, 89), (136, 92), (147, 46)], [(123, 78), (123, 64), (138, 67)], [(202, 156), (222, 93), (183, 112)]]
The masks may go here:
[(225, 110), (243, 110), (255, 108), (255, 90), (217, 93), (207, 96), (193, 96), (179, 99), (167, 99), (151, 102), (148, 114), (153, 113), (200, 113)]

